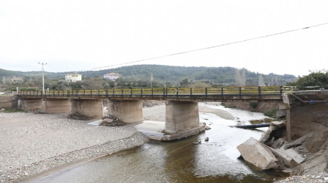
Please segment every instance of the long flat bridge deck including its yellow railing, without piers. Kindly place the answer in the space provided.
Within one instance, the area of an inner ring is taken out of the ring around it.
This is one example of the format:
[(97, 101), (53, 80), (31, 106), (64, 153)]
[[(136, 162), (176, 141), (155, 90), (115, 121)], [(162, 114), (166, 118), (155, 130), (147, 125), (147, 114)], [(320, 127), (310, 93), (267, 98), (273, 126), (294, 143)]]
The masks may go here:
[(161, 88), (18, 92), (19, 99), (117, 99), (174, 101), (277, 101), (291, 87)]

